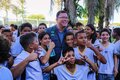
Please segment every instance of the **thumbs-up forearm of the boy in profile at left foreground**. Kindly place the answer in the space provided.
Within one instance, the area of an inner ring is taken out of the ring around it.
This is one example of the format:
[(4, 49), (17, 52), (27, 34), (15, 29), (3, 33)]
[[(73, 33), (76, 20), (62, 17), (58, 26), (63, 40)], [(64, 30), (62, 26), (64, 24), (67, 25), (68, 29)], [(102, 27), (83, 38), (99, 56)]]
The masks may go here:
[(21, 75), (26, 68), (27, 64), (33, 60), (36, 60), (38, 58), (38, 54), (31, 53), (25, 60), (17, 64), (16, 66), (13, 65), (11, 68), (11, 72), (13, 74), (13, 77), (16, 78), (19, 75)]

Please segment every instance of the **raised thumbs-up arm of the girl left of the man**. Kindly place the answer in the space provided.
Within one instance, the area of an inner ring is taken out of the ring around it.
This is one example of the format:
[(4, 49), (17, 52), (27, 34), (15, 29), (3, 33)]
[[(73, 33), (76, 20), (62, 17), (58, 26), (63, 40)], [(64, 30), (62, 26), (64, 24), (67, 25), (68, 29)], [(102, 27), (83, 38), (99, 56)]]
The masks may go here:
[(50, 42), (49, 43), (49, 49), (46, 52), (46, 54), (42, 57), (40, 57), (40, 61), (42, 64), (45, 64), (46, 62), (48, 62), (49, 58), (50, 58), (50, 53), (52, 52), (53, 48), (55, 47), (54, 42)]

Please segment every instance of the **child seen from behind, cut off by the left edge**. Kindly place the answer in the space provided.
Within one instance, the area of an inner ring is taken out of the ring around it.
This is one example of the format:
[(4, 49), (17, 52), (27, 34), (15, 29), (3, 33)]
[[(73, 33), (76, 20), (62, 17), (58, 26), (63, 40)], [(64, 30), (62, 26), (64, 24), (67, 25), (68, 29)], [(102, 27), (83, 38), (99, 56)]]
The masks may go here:
[(4, 65), (8, 60), (10, 44), (8, 40), (0, 36), (0, 80), (13, 80), (11, 71)]

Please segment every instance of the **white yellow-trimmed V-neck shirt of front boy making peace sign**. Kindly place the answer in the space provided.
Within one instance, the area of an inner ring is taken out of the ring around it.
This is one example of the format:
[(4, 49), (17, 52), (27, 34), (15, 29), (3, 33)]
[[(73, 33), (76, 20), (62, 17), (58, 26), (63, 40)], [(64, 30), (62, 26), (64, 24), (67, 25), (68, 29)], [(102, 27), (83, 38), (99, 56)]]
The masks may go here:
[(88, 67), (82, 67), (76, 64), (74, 73), (71, 73), (63, 64), (54, 68), (54, 73), (58, 80), (87, 80)]

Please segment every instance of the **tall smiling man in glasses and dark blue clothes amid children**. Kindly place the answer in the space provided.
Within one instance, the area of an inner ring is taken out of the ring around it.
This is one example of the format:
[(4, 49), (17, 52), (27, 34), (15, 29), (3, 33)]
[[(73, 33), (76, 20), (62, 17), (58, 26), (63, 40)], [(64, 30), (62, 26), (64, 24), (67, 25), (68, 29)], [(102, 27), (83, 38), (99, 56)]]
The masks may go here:
[(63, 41), (64, 35), (67, 32), (67, 25), (68, 25), (68, 14), (66, 11), (58, 11), (56, 15), (56, 22), (57, 24), (48, 28), (46, 32), (50, 34), (51, 40), (55, 43), (55, 56), (50, 58), (50, 64), (59, 60), (62, 49), (64, 48), (65, 44)]

